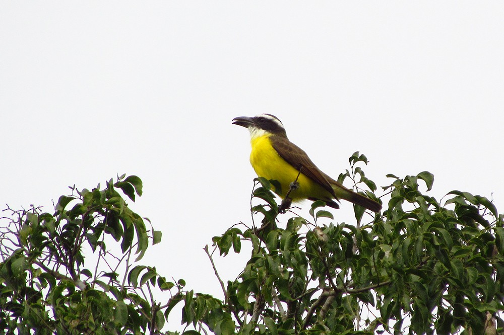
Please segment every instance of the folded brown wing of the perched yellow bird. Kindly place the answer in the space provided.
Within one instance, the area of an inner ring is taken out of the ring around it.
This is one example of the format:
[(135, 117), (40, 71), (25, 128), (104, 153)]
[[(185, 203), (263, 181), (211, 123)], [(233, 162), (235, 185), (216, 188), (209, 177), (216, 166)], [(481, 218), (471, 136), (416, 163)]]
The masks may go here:
[(285, 137), (271, 136), (270, 140), (271, 145), (273, 145), (280, 157), (294, 166), (296, 170), (300, 171), (302, 169), (301, 172), (304, 175), (319, 183), (336, 198), (334, 190), (326, 178), (327, 175), (320, 171), (317, 165), (313, 164), (306, 152)]

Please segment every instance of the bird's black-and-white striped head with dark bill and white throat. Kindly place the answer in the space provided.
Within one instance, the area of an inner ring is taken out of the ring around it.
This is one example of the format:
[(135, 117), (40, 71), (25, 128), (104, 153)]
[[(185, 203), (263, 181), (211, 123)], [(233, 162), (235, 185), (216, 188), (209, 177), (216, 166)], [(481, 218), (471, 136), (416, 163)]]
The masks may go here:
[(259, 114), (254, 117), (239, 116), (233, 119), (233, 124), (248, 128), (252, 139), (263, 135), (287, 137), (282, 121), (271, 114)]

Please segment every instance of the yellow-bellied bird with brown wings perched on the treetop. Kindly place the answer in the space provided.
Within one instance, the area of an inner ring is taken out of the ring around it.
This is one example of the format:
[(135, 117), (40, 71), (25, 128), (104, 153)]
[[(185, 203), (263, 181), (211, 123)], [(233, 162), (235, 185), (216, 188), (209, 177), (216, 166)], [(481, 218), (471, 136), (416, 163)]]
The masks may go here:
[[(276, 116), (239, 116), (232, 121), (248, 129), (250, 164), (259, 177), (278, 182), (280, 189), (274, 192), (282, 199), (294, 202), (322, 200), (335, 209), (343, 199), (373, 212), (382, 210), (378, 202), (344, 187), (322, 172), (306, 152), (288, 139), (283, 123)], [(291, 187), (292, 183), (295, 187)]]

